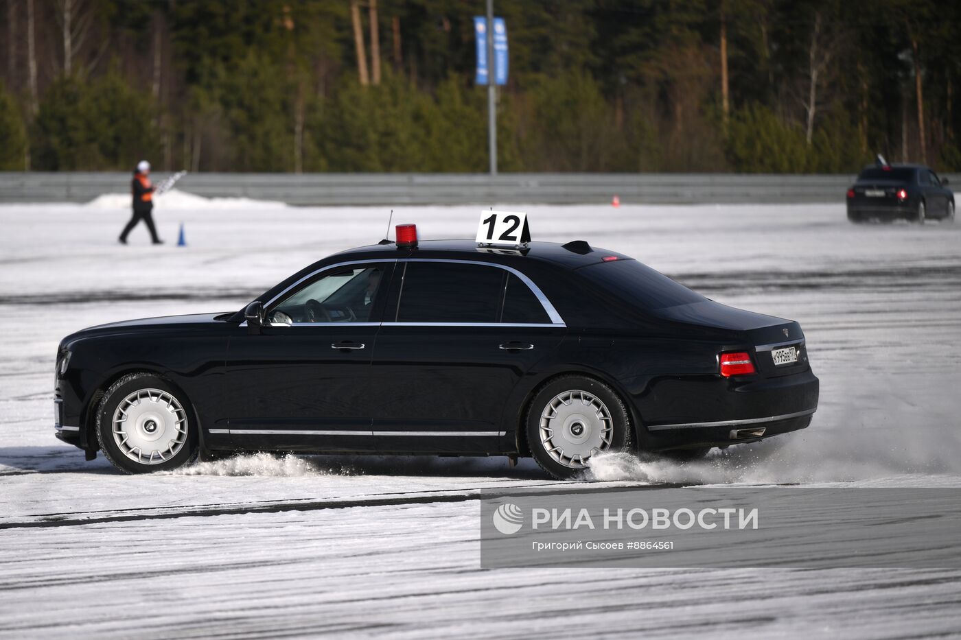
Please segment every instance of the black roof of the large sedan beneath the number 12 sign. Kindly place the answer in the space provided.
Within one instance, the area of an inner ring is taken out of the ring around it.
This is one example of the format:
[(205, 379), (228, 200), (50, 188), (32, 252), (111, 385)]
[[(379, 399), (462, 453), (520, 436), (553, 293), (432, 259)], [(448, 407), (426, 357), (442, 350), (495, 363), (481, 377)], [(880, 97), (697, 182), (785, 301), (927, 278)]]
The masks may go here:
[(603, 258), (628, 256), (607, 249), (592, 247), (584, 240), (559, 242), (530, 242), (521, 249), (497, 246), (479, 246), (474, 240), (420, 240), (416, 248), (398, 247), (390, 244), (374, 244), (348, 249), (333, 254), (329, 258), (452, 258), (470, 259), (480, 262), (512, 262), (529, 259), (551, 262), (555, 265), (577, 269), (588, 264), (601, 262)]

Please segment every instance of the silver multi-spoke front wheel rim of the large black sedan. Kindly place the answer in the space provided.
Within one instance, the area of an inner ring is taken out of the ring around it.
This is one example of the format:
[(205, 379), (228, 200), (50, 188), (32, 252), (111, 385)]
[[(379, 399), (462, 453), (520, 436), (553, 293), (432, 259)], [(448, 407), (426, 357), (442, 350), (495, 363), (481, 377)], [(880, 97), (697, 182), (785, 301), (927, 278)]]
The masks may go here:
[(113, 411), (113, 441), (140, 464), (160, 464), (177, 455), (186, 442), (186, 412), (166, 391), (138, 389)]

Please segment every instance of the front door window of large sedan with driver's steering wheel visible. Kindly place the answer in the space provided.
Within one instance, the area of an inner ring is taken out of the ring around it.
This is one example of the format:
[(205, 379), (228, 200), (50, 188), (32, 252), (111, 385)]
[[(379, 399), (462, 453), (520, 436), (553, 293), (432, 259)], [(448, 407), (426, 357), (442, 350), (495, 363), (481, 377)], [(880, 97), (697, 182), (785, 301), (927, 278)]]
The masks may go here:
[(357, 265), (327, 272), (284, 298), (268, 318), (285, 324), (370, 322), (383, 269)]

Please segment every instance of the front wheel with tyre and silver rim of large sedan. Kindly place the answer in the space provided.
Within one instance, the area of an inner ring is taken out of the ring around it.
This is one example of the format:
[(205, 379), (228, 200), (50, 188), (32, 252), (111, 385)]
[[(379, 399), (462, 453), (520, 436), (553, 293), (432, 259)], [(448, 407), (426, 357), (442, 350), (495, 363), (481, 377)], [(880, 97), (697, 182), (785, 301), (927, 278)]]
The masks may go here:
[(111, 464), (128, 474), (182, 466), (197, 451), (196, 427), (183, 393), (151, 374), (111, 385), (97, 407), (97, 439)]

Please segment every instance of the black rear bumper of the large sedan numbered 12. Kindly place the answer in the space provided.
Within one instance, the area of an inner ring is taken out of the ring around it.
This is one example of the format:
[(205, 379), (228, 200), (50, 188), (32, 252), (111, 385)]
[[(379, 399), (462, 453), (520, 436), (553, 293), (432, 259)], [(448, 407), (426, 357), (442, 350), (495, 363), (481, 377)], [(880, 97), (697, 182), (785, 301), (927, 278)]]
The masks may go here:
[(804, 429), (818, 408), (820, 392), (810, 369), (754, 381), (693, 382), (688, 393), (680, 381), (672, 387), (686, 396), (685, 414), (645, 424), (638, 433), (645, 450), (721, 447)]

